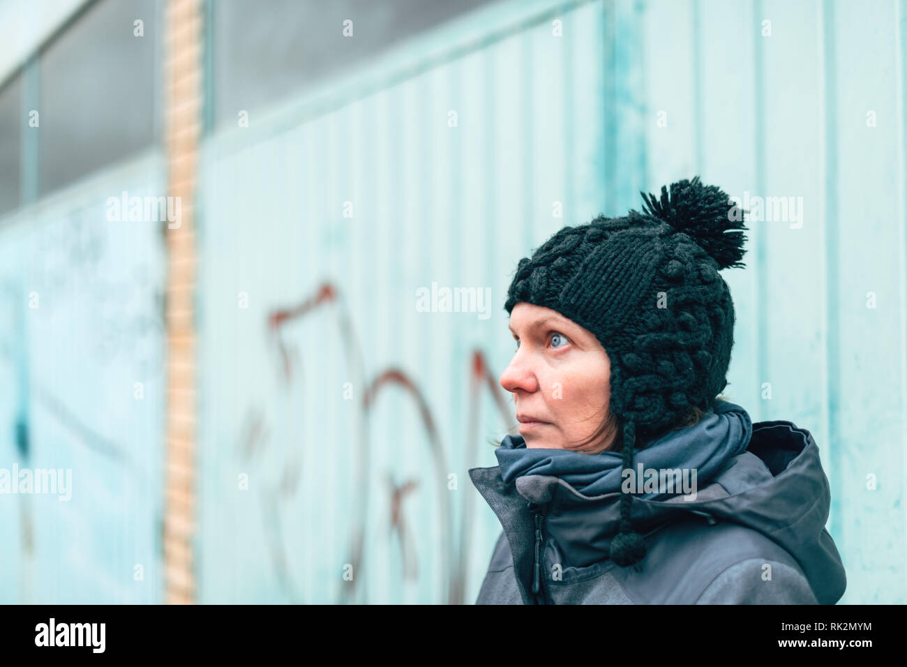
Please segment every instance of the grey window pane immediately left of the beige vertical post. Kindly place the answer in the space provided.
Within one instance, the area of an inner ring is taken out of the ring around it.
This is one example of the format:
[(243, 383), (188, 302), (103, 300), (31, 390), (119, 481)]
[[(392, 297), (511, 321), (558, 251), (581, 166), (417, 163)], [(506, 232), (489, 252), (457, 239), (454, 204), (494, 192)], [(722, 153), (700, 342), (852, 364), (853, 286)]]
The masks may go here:
[(39, 55), (39, 195), (154, 142), (162, 7), (102, 0)]

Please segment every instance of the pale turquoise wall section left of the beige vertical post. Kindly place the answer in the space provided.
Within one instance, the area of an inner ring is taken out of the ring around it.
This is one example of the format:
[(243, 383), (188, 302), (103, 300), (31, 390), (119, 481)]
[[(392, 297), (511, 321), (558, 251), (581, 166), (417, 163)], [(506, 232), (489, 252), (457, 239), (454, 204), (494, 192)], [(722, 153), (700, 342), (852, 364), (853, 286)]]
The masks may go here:
[(0, 231), (0, 467), (72, 471), (66, 494), (0, 495), (0, 603), (161, 603), (163, 241), (105, 202), (160, 192), (162, 167), (143, 156)]

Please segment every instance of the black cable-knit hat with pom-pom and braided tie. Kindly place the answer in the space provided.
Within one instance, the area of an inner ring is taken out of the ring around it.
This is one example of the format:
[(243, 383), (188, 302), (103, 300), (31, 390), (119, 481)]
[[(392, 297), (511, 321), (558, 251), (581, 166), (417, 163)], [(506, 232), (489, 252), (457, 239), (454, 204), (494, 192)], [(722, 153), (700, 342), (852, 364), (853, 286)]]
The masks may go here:
[[(610, 409), (623, 422), (623, 466), (637, 436), (676, 427), (690, 407), (707, 410), (727, 387), (734, 304), (718, 270), (743, 268), (744, 211), (699, 177), (640, 192), (643, 213), (564, 227), (517, 266), (504, 309), (519, 302), (556, 310), (588, 329), (610, 358)], [(610, 546), (622, 567), (646, 554), (620, 499)]]

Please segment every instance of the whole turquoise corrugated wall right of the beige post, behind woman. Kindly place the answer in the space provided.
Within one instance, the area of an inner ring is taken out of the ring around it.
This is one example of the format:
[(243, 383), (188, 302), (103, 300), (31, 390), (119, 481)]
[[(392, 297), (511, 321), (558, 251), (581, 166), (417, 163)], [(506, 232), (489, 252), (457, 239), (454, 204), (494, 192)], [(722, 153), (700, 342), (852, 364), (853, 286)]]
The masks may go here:
[[(748, 268), (725, 272), (738, 315), (727, 395), (755, 421), (814, 434), (842, 602), (903, 602), (902, 7), (541, 5), (512, 22), (515, 5), (499, 5), (486, 18), (500, 23), (473, 24), (487, 26), (473, 50), (453, 32), (449, 57), (410, 48), (411, 76), (363, 75), (353, 93), (210, 140), (203, 598), (344, 600), (361, 524), (353, 599), (472, 600), (500, 528), (466, 470), (494, 465), (484, 441), (510, 416), (509, 397), (502, 410), (475, 384), (473, 353), (496, 385), (516, 261), (564, 224), (698, 173), (741, 198), (803, 202), (802, 223), (751, 221)], [(489, 287), (490, 317), (417, 312), (433, 282)], [(336, 299), (307, 304), (324, 285)], [(364, 407), (391, 370), (403, 379)], [(393, 489), (407, 482), (401, 540)]]

